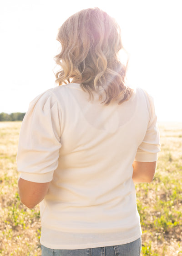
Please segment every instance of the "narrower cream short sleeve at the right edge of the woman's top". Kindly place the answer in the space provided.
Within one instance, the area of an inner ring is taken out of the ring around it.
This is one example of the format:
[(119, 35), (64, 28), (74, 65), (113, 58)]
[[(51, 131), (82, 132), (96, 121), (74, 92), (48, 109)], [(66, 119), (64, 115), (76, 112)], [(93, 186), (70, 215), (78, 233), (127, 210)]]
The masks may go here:
[(160, 151), (160, 136), (157, 125), (157, 115), (155, 112), (154, 101), (151, 96), (144, 92), (147, 100), (149, 112), (149, 123), (145, 137), (137, 149), (135, 161), (138, 162), (155, 162), (157, 153)]

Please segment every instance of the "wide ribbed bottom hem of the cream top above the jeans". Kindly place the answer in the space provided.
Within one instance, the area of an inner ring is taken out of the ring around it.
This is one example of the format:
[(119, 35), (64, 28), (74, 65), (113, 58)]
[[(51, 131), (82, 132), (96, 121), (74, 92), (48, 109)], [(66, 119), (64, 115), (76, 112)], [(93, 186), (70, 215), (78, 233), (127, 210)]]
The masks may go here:
[(135, 241), (142, 235), (140, 224), (129, 230), (106, 233), (71, 233), (42, 227), (40, 243), (51, 249), (87, 249), (123, 245)]

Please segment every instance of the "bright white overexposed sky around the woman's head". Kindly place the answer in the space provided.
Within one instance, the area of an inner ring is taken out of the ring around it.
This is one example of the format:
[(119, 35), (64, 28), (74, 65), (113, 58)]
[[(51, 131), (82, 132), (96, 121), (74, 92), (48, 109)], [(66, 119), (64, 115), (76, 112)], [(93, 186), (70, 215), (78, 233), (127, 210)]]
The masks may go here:
[(26, 112), (31, 100), (55, 86), (59, 27), (96, 6), (121, 27), (128, 84), (154, 98), (158, 121), (182, 122), (181, 0), (1, 0), (0, 112)]

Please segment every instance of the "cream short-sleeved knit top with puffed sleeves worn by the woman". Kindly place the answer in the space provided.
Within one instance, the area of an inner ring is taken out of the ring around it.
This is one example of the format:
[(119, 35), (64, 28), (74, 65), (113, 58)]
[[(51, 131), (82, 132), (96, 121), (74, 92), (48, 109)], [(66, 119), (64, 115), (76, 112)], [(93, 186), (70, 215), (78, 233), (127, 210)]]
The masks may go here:
[(49, 182), (40, 242), (52, 249), (129, 243), (141, 236), (132, 163), (160, 151), (152, 97), (138, 88), (121, 105), (88, 101), (79, 84), (31, 101), (17, 154), (22, 179)]

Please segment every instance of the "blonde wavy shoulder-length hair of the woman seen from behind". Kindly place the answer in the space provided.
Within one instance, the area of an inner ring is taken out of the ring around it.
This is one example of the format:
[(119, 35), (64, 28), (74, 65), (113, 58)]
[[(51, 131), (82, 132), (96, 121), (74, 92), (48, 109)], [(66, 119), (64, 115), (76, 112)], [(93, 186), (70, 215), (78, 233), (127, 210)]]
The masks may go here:
[[(61, 52), (55, 56), (61, 70), (58, 85), (80, 83), (90, 99), (95, 91), (102, 103), (128, 100), (132, 89), (126, 85), (126, 64), (119, 59), (121, 30), (117, 22), (99, 8), (89, 8), (70, 16), (58, 31)], [(100, 93), (105, 91), (104, 99)]]

